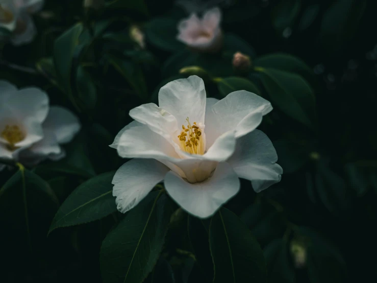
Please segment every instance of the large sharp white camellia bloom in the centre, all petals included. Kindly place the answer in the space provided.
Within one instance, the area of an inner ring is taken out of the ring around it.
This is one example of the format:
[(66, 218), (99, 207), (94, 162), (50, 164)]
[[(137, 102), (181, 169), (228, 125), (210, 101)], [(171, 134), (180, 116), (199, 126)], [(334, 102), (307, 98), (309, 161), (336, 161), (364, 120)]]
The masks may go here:
[(135, 120), (111, 147), (123, 164), (112, 183), (118, 210), (130, 210), (164, 181), (167, 193), (190, 214), (206, 218), (239, 191), (239, 179), (260, 192), (279, 182), (282, 168), (271, 141), (256, 130), (271, 104), (239, 90), (222, 100), (206, 98), (197, 76), (160, 89), (159, 105), (130, 111)]

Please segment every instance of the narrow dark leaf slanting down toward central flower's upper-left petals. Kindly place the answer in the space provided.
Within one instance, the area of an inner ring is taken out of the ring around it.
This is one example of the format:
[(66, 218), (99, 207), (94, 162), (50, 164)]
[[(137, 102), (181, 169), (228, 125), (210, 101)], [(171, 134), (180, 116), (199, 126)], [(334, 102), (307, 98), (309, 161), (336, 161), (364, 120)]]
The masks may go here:
[(138, 96), (144, 100), (147, 99), (146, 83), (139, 65), (131, 61), (119, 59), (110, 54), (107, 55), (107, 59), (117, 72), (127, 80)]

